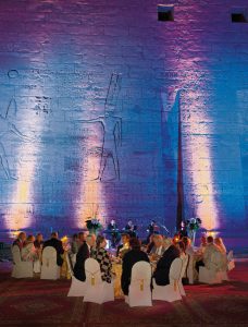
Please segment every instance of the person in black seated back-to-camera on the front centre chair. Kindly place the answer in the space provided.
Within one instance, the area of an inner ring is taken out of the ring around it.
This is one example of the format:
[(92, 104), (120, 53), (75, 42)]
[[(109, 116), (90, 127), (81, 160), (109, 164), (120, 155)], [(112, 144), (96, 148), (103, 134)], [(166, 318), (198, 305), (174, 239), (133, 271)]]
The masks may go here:
[(125, 295), (128, 295), (128, 288), (131, 284), (131, 274), (134, 264), (138, 262), (149, 263), (148, 255), (140, 250), (140, 242), (137, 238), (132, 238), (129, 241), (131, 251), (128, 251), (122, 263), (122, 277), (121, 284), (122, 290)]

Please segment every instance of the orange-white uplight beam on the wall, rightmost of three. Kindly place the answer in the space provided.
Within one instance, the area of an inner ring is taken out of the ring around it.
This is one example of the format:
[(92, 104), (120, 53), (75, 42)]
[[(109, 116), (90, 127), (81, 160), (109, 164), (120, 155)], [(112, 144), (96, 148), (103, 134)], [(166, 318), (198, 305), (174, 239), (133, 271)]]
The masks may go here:
[[(202, 221), (201, 227), (207, 230), (218, 228), (218, 209), (214, 198), (211, 142), (208, 137), (211, 134), (208, 117), (204, 116), (202, 94), (199, 92), (187, 92), (184, 94), (187, 101), (191, 104), (190, 118), (184, 129), (184, 133), (190, 135), (186, 147), (187, 173), (191, 177), (191, 192), (195, 194), (194, 206), (196, 217)], [(196, 110), (200, 108), (201, 110)]]

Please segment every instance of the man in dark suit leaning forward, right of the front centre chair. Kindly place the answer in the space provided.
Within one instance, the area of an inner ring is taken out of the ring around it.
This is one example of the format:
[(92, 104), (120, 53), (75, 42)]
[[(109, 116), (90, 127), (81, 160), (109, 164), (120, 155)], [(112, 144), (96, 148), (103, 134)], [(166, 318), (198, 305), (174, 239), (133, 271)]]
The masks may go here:
[(172, 262), (176, 257), (179, 257), (179, 250), (175, 245), (170, 245), (159, 259), (157, 268), (153, 272), (153, 278), (157, 284), (165, 286), (170, 283), (170, 268)]

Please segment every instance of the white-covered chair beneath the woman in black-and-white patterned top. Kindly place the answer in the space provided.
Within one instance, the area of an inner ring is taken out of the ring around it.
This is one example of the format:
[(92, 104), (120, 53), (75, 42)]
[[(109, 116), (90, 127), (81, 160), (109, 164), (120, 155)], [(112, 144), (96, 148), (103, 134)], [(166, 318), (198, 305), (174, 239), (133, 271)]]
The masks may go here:
[(104, 303), (114, 301), (113, 282), (108, 283), (101, 279), (99, 263), (94, 258), (85, 261), (86, 287), (84, 302)]

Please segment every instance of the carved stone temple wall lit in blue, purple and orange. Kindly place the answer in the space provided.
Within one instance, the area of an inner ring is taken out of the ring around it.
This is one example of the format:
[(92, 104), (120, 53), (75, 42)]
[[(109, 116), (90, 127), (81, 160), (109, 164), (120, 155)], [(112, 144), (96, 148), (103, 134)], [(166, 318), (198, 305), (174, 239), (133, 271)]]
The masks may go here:
[(206, 2), (1, 1), (1, 230), (174, 230), (178, 111), (185, 217), (247, 227), (247, 4)]

